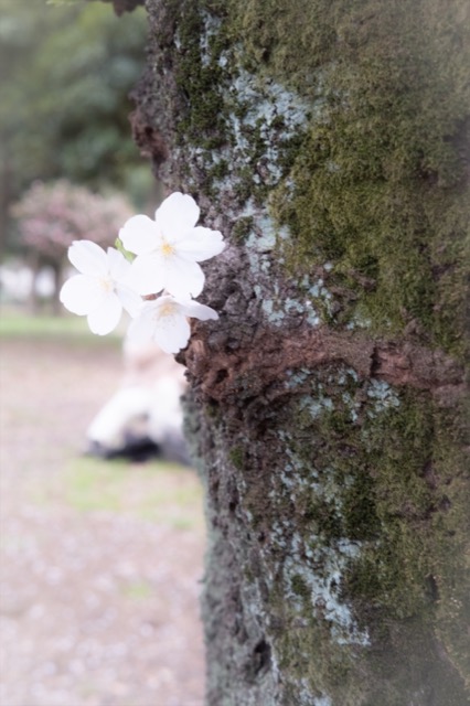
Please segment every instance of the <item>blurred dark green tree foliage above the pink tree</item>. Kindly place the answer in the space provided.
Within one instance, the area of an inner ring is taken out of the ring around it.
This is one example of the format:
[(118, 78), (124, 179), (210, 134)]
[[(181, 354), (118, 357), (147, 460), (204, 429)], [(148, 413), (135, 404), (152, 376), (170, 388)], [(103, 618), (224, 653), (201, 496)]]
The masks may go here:
[(146, 28), (143, 12), (119, 21), (100, 3), (0, 0), (0, 248), (9, 206), (35, 179), (133, 200), (148, 188), (128, 121)]

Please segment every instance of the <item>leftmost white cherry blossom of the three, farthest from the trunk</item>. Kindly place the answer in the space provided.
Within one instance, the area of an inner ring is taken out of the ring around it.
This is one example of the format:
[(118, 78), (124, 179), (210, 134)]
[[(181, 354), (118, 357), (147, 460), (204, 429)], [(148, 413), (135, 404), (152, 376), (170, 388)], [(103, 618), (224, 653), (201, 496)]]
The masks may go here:
[(87, 317), (93, 333), (113, 331), (122, 307), (137, 315), (142, 300), (126, 281), (130, 263), (121, 253), (114, 247), (105, 252), (92, 240), (75, 240), (68, 248), (68, 259), (79, 275), (64, 284), (60, 299), (68, 311)]

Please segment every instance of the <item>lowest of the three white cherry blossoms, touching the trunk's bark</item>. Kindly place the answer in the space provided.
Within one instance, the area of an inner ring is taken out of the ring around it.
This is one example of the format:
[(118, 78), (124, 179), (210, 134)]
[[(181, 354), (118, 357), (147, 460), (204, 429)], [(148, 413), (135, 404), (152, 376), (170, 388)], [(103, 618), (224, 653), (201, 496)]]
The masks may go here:
[(211, 307), (197, 301), (178, 301), (171, 295), (146, 301), (131, 321), (128, 336), (136, 343), (154, 341), (165, 353), (178, 353), (188, 345), (191, 329), (188, 318), (218, 319)]

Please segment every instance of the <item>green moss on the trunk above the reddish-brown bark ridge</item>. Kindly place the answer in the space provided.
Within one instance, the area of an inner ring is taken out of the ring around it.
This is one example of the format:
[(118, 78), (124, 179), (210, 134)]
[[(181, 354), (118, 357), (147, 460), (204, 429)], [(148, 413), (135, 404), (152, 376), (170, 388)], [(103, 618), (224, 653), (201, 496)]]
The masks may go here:
[[(280, 184), (271, 200), (292, 235), (282, 246), (288, 269), (298, 274), (332, 260), (330, 285), (360, 299), (341, 301), (338, 323), (359, 314), (375, 332), (392, 334), (412, 324), (426, 343), (461, 354), (470, 222), (463, 197), (470, 18), (461, 24), (468, 6), (301, 4), (305, 29), (295, 45), (277, 40), (267, 23), (261, 32), (273, 46), (267, 64), (302, 94), (321, 89), (325, 97), (293, 161), (293, 188)], [(276, 17), (280, 23), (289, 13), (301, 17), (284, 3), (270, 6), (275, 26)], [(276, 6), (284, 12), (277, 15)], [(265, 2), (252, 2), (249, 26), (259, 29), (265, 11)], [(303, 52), (302, 34), (309, 39)], [(312, 87), (319, 61), (327, 68)]]

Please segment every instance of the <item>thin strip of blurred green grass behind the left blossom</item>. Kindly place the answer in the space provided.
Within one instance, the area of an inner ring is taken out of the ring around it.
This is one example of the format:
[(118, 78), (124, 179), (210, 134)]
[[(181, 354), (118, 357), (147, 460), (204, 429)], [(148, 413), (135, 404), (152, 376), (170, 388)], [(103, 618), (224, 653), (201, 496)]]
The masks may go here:
[(74, 317), (64, 313), (54, 317), (47, 313), (32, 314), (25, 309), (13, 307), (0, 308), (0, 338), (23, 339), (73, 339), (74, 342), (120, 342), (119, 333), (98, 336), (88, 329), (86, 317)]

